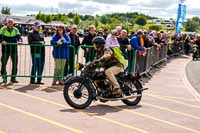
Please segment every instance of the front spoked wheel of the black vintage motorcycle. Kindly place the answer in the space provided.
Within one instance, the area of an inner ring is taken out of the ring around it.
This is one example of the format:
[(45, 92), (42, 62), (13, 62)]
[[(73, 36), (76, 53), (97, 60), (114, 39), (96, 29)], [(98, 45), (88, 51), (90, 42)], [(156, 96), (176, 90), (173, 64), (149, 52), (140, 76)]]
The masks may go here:
[(84, 109), (92, 102), (92, 92), (82, 79), (70, 79), (64, 87), (65, 101), (73, 108)]

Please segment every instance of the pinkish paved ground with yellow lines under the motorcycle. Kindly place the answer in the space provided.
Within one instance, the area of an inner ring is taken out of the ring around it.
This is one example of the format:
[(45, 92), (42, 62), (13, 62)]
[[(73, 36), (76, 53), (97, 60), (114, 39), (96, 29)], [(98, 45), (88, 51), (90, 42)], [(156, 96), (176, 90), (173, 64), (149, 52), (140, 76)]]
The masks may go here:
[(185, 75), (189, 61), (172, 60), (157, 72), (136, 107), (94, 102), (75, 110), (65, 103), (62, 87), (1, 86), (0, 133), (200, 133), (200, 101)]

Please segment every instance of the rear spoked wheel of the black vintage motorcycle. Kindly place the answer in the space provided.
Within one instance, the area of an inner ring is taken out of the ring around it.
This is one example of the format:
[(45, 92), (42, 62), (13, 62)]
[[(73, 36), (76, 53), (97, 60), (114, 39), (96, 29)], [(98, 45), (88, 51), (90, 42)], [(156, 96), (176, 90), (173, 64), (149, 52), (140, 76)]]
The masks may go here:
[(130, 95), (138, 95), (138, 97), (133, 98), (133, 99), (125, 99), (122, 100), (123, 103), (125, 103), (128, 106), (136, 106), (142, 99), (142, 92), (141, 91), (136, 91), (142, 89), (141, 83), (139, 81), (135, 81), (135, 83), (129, 81), (126, 83), (132, 90), (128, 94), (125, 94), (126, 96)]

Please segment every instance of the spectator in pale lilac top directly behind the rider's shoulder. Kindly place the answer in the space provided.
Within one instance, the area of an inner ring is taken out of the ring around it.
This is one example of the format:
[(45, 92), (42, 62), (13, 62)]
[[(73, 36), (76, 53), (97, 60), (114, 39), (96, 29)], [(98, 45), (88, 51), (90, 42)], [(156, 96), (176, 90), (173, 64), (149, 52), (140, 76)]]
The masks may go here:
[(117, 30), (112, 30), (111, 34), (106, 38), (106, 48), (114, 48), (120, 47), (119, 42), (117, 40)]

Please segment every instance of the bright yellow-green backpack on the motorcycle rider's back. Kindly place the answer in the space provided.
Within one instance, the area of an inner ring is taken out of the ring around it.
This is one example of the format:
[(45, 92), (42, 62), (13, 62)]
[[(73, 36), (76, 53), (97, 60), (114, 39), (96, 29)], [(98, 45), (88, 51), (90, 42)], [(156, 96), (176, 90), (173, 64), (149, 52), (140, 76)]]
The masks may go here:
[(123, 67), (125, 67), (127, 65), (127, 62), (120, 48), (115, 47), (115, 48), (111, 48), (111, 50), (113, 51), (114, 57), (123, 65)]

